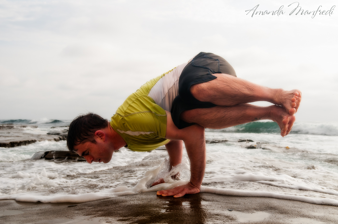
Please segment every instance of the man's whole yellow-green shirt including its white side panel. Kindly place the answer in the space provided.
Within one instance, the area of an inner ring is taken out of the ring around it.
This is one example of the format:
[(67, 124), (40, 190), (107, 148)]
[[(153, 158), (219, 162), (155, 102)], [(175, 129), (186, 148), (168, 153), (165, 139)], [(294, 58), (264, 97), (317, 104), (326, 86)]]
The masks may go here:
[[(191, 61), (190, 59), (189, 61)], [(188, 63), (189, 63), (188, 61)], [(110, 125), (133, 151), (150, 151), (168, 143), (167, 114), (178, 95), (178, 80), (184, 63), (150, 80), (128, 96)]]

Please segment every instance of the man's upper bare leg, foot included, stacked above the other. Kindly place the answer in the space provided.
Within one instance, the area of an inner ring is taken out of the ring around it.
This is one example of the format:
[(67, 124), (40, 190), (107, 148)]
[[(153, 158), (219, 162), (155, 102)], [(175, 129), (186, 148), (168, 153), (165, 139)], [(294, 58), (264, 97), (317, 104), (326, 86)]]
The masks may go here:
[(271, 89), (231, 75), (214, 75), (217, 76), (216, 79), (190, 87), (191, 94), (197, 100), (220, 106), (268, 101), (283, 106), (291, 115), (298, 110), (301, 92), (297, 89), (291, 91)]

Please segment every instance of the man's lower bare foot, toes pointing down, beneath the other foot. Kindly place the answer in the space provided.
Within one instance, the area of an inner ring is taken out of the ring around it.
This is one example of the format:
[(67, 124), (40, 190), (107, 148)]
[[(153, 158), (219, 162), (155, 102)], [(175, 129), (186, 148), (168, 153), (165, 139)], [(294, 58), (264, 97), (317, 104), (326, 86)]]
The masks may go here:
[(285, 112), (285, 109), (281, 106), (273, 105), (270, 107), (270, 119), (279, 125), (281, 129), (281, 136), (285, 137), (291, 132), (292, 125), (296, 118), (295, 116)]

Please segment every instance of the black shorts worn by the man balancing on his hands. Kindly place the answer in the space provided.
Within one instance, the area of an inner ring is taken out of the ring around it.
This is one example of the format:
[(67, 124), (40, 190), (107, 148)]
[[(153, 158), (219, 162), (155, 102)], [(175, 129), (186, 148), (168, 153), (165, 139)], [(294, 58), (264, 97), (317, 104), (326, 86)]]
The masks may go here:
[(234, 68), (224, 58), (212, 53), (201, 52), (185, 66), (178, 80), (178, 95), (175, 97), (171, 107), (171, 117), (178, 129), (194, 124), (179, 119), (183, 111), (216, 106), (210, 102), (196, 100), (190, 93), (190, 87), (193, 84), (216, 79), (217, 76), (213, 74), (217, 73), (237, 77)]

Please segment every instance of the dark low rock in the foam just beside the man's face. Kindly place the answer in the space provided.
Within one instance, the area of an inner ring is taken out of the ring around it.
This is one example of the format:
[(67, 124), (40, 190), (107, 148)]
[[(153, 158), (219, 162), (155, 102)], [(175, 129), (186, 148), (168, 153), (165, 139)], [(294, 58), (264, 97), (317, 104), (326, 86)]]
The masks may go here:
[(45, 158), (46, 160), (75, 160), (75, 161), (86, 161), (83, 157), (77, 155), (76, 153), (71, 153), (70, 151), (62, 150), (52, 150), (45, 152), (35, 152), (31, 160), (39, 160)]

